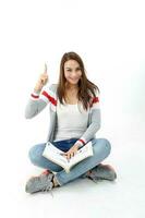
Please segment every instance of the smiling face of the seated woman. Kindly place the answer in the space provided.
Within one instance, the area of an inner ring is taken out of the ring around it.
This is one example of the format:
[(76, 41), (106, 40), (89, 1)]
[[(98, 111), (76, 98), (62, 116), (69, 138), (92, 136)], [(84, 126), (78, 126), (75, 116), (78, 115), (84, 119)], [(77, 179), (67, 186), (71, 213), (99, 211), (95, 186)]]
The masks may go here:
[(69, 60), (64, 63), (64, 77), (70, 85), (76, 85), (82, 76), (80, 64), (75, 60)]

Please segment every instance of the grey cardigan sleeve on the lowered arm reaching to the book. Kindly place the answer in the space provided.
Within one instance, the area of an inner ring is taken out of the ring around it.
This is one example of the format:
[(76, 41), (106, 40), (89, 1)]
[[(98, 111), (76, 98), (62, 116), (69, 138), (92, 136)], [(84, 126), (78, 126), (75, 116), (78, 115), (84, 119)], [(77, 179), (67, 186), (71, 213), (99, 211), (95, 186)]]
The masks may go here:
[(82, 137), (76, 142), (80, 144), (80, 147), (89, 142), (95, 136), (95, 134), (99, 129), (100, 129), (99, 94), (96, 93), (96, 97), (93, 97), (90, 104), (89, 125), (82, 135)]

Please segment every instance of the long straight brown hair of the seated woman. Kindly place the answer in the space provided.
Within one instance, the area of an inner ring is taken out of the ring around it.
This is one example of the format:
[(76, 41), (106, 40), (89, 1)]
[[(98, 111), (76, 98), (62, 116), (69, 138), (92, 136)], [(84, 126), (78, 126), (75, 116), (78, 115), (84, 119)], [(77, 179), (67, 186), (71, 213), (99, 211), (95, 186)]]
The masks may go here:
[(64, 94), (65, 94), (65, 82), (67, 82), (67, 78), (64, 77), (64, 63), (65, 61), (69, 61), (69, 60), (75, 60), (80, 64), (82, 76), (77, 84), (78, 85), (77, 98), (83, 104), (84, 109), (87, 110), (88, 102), (92, 99), (90, 93), (95, 97), (95, 89), (99, 92), (99, 88), (94, 83), (88, 81), (88, 78), (86, 77), (83, 60), (77, 53), (73, 51), (64, 53), (60, 62), (60, 75), (59, 75), (59, 83), (58, 83), (58, 89), (57, 89), (59, 100), (61, 104), (63, 104), (62, 99), (65, 96)]

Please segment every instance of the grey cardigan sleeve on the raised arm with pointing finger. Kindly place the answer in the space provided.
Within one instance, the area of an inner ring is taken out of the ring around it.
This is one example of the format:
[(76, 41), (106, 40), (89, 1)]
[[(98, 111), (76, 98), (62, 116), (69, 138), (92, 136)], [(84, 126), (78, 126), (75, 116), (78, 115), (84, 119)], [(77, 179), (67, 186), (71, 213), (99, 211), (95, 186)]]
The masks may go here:
[(51, 86), (46, 86), (41, 92), (31, 94), (31, 97), (27, 101), (25, 108), (25, 118), (31, 119), (37, 116), (41, 110), (46, 108), (48, 102), (50, 101), (51, 96)]

